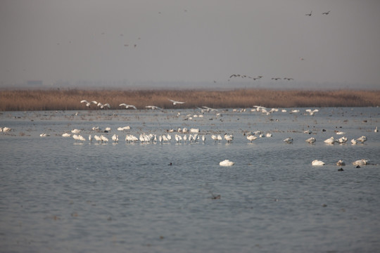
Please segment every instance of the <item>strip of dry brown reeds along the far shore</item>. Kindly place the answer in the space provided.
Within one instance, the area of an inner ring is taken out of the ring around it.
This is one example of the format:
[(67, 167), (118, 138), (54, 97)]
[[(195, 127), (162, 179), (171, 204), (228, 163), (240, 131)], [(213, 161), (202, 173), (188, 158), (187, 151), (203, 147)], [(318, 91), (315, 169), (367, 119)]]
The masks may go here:
[[(172, 105), (168, 98), (186, 101)], [(146, 105), (160, 108), (267, 108), (299, 107), (365, 107), (380, 105), (380, 91), (334, 90), (270, 90), (236, 89), (232, 91), (205, 90), (4, 90), (0, 91), (0, 111), (16, 110), (99, 110), (96, 105), (87, 108), (80, 100), (109, 103), (111, 109), (124, 109), (120, 103), (146, 109)]]

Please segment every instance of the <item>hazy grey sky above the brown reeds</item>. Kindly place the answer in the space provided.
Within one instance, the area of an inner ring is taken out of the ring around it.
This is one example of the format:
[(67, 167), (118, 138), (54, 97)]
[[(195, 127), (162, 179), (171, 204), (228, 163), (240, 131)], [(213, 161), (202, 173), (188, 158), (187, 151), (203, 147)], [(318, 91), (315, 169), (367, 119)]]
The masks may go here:
[(1, 0), (0, 85), (247, 74), (380, 89), (379, 13), (378, 0)]

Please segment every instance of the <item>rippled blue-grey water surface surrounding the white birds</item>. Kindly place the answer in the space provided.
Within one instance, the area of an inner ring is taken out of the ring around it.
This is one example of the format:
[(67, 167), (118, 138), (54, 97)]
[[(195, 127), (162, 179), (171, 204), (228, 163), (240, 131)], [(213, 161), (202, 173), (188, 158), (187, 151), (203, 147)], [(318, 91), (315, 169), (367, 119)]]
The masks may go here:
[[(380, 252), (380, 108), (299, 109), (1, 112), (13, 130), (0, 133), (0, 251)], [(93, 126), (110, 126), (103, 134), (119, 143), (62, 137), (81, 129), (87, 139)], [(124, 141), (183, 127), (205, 143)], [(243, 136), (257, 130), (273, 136)], [(324, 144), (336, 130), (348, 143)], [(210, 138), (225, 133), (232, 143)], [(360, 136), (364, 145), (349, 143)], [(372, 164), (355, 168), (360, 159)]]

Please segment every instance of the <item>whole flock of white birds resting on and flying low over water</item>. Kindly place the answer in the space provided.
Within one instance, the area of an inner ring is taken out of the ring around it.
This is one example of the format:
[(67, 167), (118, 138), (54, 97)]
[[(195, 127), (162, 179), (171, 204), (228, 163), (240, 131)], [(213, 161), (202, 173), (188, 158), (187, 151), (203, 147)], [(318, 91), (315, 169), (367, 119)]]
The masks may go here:
[[(171, 100), (171, 99), (169, 99), (169, 100), (173, 103), (173, 105), (186, 103), (186, 102), (180, 102), (180, 101)], [(103, 103), (99, 103), (95, 100), (93, 100), (91, 102), (89, 102), (87, 100), (81, 100), (80, 103), (85, 103), (87, 107), (91, 106), (91, 104), (94, 104), (101, 109), (110, 108), (110, 105), (108, 103), (103, 104)], [(134, 110), (137, 110), (137, 108), (134, 105), (128, 105), (126, 103), (122, 103), (119, 106), (123, 106), (126, 109), (133, 108)], [(154, 109), (161, 109), (155, 105), (147, 105), (146, 108), (150, 108), (153, 110)], [(186, 119), (190, 119), (191, 116), (203, 117), (204, 112), (216, 112), (217, 116), (220, 115), (220, 113), (218, 113), (216, 109), (209, 108), (207, 106), (202, 106), (201, 108), (198, 108), (198, 109), (201, 110), (201, 113), (202, 113), (201, 115), (190, 115)], [(246, 109), (241, 109), (241, 110), (234, 109), (233, 110), (233, 112), (245, 112), (245, 111), (246, 111)], [(278, 112), (279, 109), (278, 108), (272, 108), (269, 110), (265, 107), (262, 107), (259, 105), (254, 105), (253, 109), (251, 111), (261, 112), (264, 115), (270, 115), (272, 112)], [(282, 109), (281, 112), (287, 112), (287, 111), (285, 109)], [(298, 112), (300, 112), (300, 110), (295, 109), (295, 110), (291, 110), (289, 113), (298, 113)], [(315, 113), (319, 112), (319, 110), (318, 109), (315, 109), (315, 110), (307, 109), (307, 110), (305, 110), (305, 112), (308, 112), (309, 115), (315, 115)], [(129, 131), (130, 129), (131, 129), (130, 126), (118, 127), (118, 131), (122, 131), (123, 133), (125, 131)], [(6, 127), (6, 126), (0, 127), (0, 132), (7, 132), (7, 131), (11, 131), (11, 130), (12, 130), (11, 128)], [(103, 133), (109, 133), (111, 131), (110, 127), (106, 127), (106, 129), (101, 130), (101, 129), (99, 129), (99, 126), (94, 126), (94, 127), (92, 127), (92, 130), (96, 131), (96, 133), (99, 133), (99, 134), (94, 134), (94, 136), (89, 134), (89, 136), (87, 138), (84, 138), (84, 136), (82, 136), (82, 134), (80, 134), (80, 132), (81, 132), (80, 129), (72, 129), (71, 134), (65, 132), (64, 134), (62, 134), (62, 136), (63, 137), (72, 136), (72, 138), (74, 138), (74, 140), (75, 140), (75, 143), (84, 143), (87, 140), (89, 141), (89, 143), (92, 143), (92, 142), (94, 142), (94, 143), (95, 142), (96, 143), (108, 143), (109, 142), (108, 137)], [(336, 132), (336, 135), (343, 135), (343, 136), (341, 138), (334, 138), (334, 136), (331, 136), (330, 138), (327, 138), (326, 140), (324, 140), (324, 143), (326, 145), (346, 144), (348, 141), (348, 138), (346, 136), (344, 136), (346, 133), (343, 131), (335, 131), (335, 132)], [(374, 132), (378, 132), (377, 126), (376, 126), (376, 129), (374, 129)], [(305, 134), (311, 134), (311, 131), (307, 130), (307, 131), (304, 131), (304, 133)], [(171, 134), (174, 134), (174, 138), (172, 138)], [(263, 137), (270, 138), (270, 137), (272, 137), (272, 133), (270, 133), (270, 132), (262, 133), (261, 131), (253, 131), (253, 132), (250, 131), (250, 132), (244, 133), (243, 135), (246, 136), (246, 139), (251, 143), (253, 141), (257, 140), (258, 138), (263, 138)], [(42, 133), (39, 136), (45, 137), (45, 136), (49, 136), (49, 134)], [(140, 143), (146, 143), (146, 144), (148, 144), (148, 143), (171, 143), (171, 142), (175, 142), (175, 143), (203, 142), (203, 143), (205, 143), (206, 138), (207, 138), (206, 134), (201, 134), (200, 129), (196, 129), (196, 128), (187, 129), (186, 127), (184, 127), (183, 129), (179, 128), (177, 130), (170, 129), (170, 130), (167, 130), (167, 133), (160, 134), (160, 135), (142, 133), (142, 134), (139, 134), (139, 136), (134, 136), (132, 134), (126, 134), (124, 140), (126, 143), (140, 142)], [(210, 138), (213, 141), (215, 141), (215, 143), (220, 143), (223, 140), (227, 141), (227, 143), (232, 143), (232, 141), (234, 141), (234, 135), (233, 134), (224, 134), (224, 135), (211, 134)], [(119, 135), (113, 134), (113, 136), (111, 137), (111, 140), (113, 143), (118, 143), (119, 142)], [(291, 144), (291, 143), (293, 143), (293, 138), (291, 138), (291, 137), (285, 138), (283, 141), (284, 141), (284, 143)], [(310, 143), (310, 144), (314, 144), (316, 141), (317, 140), (315, 137), (310, 137), (310, 138), (305, 140), (306, 143)], [(367, 137), (361, 136), (359, 138), (351, 139), (350, 143), (351, 143), (351, 145), (356, 145), (357, 143), (364, 144), (365, 141), (367, 141)], [(323, 162), (321, 160), (313, 160), (312, 161), (312, 166), (323, 166), (324, 164), (325, 164), (325, 162)], [(343, 162), (342, 160), (339, 160), (338, 162), (336, 162), (336, 164), (338, 166), (343, 166), (343, 165), (345, 165), (345, 162)], [(365, 164), (369, 164), (369, 161), (363, 159), (363, 160), (357, 160), (357, 161), (353, 162), (353, 165), (355, 165), (355, 166), (360, 166), (360, 165), (365, 165)], [(220, 166), (232, 166), (232, 165), (234, 165), (234, 162), (231, 162), (229, 160), (224, 160), (224, 161), (220, 162)]]

